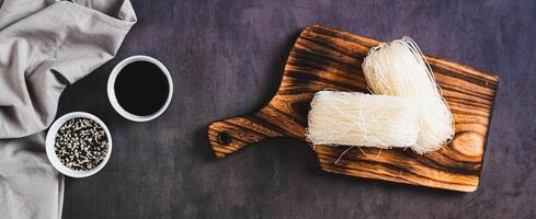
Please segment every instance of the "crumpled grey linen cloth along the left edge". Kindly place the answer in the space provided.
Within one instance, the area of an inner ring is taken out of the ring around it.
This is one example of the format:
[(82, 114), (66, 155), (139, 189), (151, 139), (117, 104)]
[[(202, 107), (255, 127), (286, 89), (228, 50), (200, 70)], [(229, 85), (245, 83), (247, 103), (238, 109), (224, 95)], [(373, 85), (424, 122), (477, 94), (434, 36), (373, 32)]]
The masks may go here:
[(0, 0), (0, 218), (60, 218), (64, 178), (43, 132), (64, 89), (116, 54), (128, 0)]

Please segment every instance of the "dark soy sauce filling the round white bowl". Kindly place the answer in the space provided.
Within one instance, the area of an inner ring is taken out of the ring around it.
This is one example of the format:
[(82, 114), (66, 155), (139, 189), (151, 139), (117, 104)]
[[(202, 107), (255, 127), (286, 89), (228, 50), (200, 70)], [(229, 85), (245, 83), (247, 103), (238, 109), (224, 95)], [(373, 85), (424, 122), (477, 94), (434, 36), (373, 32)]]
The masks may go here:
[(149, 116), (160, 111), (170, 94), (168, 78), (149, 61), (134, 61), (117, 74), (114, 92), (118, 104), (126, 112)]

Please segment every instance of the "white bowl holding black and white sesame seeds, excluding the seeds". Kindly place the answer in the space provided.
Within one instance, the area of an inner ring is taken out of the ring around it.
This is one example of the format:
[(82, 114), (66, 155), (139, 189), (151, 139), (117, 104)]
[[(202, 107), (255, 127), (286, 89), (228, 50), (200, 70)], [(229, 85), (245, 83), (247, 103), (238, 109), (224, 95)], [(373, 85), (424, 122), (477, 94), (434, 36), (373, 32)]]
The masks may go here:
[[(80, 118), (80, 117), (89, 118), (91, 120), (96, 122), (106, 132), (106, 138), (109, 141), (109, 148), (106, 151), (106, 157), (104, 158), (104, 160), (101, 163), (99, 163), (99, 165), (96, 165), (94, 169), (91, 169), (89, 171), (76, 171), (76, 170), (72, 170), (70, 168), (65, 166), (64, 163), (61, 163), (59, 158), (56, 155), (56, 151), (54, 150), (54, 145), (56, 141), (56, 134), (58, 132), (59, 128), (65, 123), (70, 120), (71, 118)], [(56, 170), (58, 170), (60, 173), (62, 173), (64, 175), (67, 175), (67, 176), (71, 176), (71, 177), (87, 177), (87, 176), (95, 174), (102, 168), (104, 168), (104, 165), (106, 165), (107, 160), (112, 155), (112, 135), (110, 135), (110, 130), (107, 129), (106, 125), (104, 125), (104, 123), (100, 118), (98, 118), (96, 116), (91, 115), (89, 113), (84, 113), (84, 112), (72, 112), (72, 113), (68, 113), (68, 114), (62, 115), (56, 122), (54, 122), (54, 124), (48, 129), (48, 134), (46, 135), (45, 148), (46, 148), (46, 155), (48, 157), (48, 160), (50, 161), (53, 166)]]

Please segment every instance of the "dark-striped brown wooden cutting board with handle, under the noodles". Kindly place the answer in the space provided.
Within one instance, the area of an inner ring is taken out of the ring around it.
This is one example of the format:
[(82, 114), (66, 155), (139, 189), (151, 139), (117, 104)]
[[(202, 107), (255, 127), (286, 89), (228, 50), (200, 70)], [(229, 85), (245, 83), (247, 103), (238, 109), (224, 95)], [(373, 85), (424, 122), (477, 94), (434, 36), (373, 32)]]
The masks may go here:
[[(290, 51), (272, 101), (258, 112), (209, 126), (208, 139), (216, 157), (267, 138), (305, 141), (313, 94), (324, 89), (367, 92), (361, 65), (368, 49), (378, 44), (320, 25), (306, 27)], [(337, 164), (347, 147), (311, 147), (322, 171), (453, 191), (477, 189), (499, 78), (438, 58), (426, 59), (454, 114), (454, 140), (424, 155), (401, 149), (353, 149)]]

